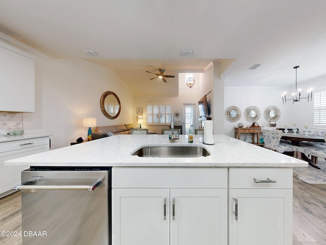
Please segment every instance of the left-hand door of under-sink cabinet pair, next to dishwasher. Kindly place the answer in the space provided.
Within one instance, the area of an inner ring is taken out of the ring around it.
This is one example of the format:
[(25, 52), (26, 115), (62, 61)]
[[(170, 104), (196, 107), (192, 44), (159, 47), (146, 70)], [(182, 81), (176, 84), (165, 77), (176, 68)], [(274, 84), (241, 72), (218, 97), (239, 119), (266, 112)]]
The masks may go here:
[(112, 244), (169, 245), (169, 192), (113, 188)]

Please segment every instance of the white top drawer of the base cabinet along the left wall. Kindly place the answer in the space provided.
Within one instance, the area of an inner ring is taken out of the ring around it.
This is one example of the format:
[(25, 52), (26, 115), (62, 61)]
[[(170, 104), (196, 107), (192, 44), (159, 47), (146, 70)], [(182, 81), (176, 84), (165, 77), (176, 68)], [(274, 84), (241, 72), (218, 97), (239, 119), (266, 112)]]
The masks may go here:
[(49, 145), (49, 137), (13, 140), (0, 143), (0, 153), (32, 148), (39, 145)]

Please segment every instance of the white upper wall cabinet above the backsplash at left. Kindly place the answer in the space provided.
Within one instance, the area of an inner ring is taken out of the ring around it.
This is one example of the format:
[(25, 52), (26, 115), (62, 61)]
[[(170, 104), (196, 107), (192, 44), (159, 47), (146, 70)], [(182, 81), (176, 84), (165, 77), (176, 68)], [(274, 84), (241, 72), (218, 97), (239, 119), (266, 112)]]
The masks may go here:
[(34, 60), (0, 43), (0, 111), (35, 111)]

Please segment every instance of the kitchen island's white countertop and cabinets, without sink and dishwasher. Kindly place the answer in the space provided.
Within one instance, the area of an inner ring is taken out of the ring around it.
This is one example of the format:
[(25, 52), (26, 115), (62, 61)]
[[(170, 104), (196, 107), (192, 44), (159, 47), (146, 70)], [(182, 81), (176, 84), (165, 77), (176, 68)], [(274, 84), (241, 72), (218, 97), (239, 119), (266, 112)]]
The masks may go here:
[[(114, 245), (292, 244), (292, 167), (308, 163), (224, 135), (214, 141), (116, 135), (5, 164), (112, 166)], [(198, 145), (210, 155), (131, 155), (146, 145)]]

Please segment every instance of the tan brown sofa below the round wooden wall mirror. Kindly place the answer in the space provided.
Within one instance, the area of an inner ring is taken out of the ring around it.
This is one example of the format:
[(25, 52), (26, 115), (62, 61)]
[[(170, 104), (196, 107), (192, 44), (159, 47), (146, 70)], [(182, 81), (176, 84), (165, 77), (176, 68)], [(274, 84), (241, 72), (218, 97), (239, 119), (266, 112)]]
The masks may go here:
[(130, 134), (131, 128), (133, 128), (133, 124), (120, 124), (113, 126), (96, 127), (95, 131), (92, 132), (92, 140), (117, 134)]

